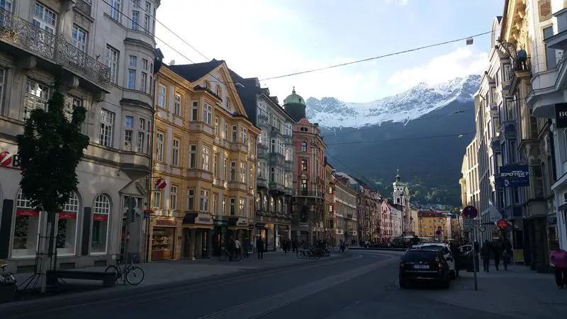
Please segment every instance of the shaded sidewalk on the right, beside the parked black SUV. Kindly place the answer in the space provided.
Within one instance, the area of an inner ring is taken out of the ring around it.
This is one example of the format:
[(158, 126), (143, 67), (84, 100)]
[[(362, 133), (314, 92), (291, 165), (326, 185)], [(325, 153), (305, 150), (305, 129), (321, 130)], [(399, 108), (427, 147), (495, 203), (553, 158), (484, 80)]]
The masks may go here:
[(473, 273), (459, 272), (449, 290), (419, 291), (425, 298), (508, 315), (513, 318), (567, 318), (567, 289), (558, 289), (553, 274), (538, 274), (525, 266), (493, 265), (490, 272), (477, 273), (478, 291), (474, 290)]

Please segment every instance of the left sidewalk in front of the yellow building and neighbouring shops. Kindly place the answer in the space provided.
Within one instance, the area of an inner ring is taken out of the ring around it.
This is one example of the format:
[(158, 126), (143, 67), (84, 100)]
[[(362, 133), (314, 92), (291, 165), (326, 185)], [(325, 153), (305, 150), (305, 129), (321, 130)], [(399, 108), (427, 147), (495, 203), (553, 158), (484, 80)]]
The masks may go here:
[[(211, 280), (215, 276), (227, 276), (230, 274), (235, 274), (238, 276), (249, 271), (266, 271), (269, 269), (277, 269), (283, 267), (293, 267), (295, 265), (309, 264), (311, 262), (321, 262), (328, 259), (336, 259), (342, 254), (333, 253), (330, 257), (321, 258), (318, 260), (314, 259), (298, 259), (296, 254), (288, 253), (283, 254), (283, 252), (266, 252), (264, 253), (264, 259), (258, 259), (256, 254), (249, 255), (249, 258), (242, 258), (240, 262), (220, 262), (218, 257), (213, 257), (210, 259), (181, 259), (181, 260), (164, 260), (159, 262), (148, 262), (136, 264), (137, 267), (144, 269), (144, 281), (137, 286), (122, 285), (117, 284), (113, 289), (134, 289), (142, 286), (155, 286), (159, 284), (176, 283), (183, 281), (191, 281), (196, 279), (205, 279), (206, 277), (211, 277)], [(105, 267), (88, 267), (80, 268), (76, 270), (82, 270), (87, 272), (104, 272)], [(74, 269), (71, 269), (74, 270)], [(18, 284), (26, 281), (31, 273), (21, 273), (15, 274)], [(80, 285), (92, 288), (101, 287), (100, 281), (83, 281), (74, 279), (65, 279), (65, 282), (69, 285)], [(23, 288), (23, 287), (21, 287)]]

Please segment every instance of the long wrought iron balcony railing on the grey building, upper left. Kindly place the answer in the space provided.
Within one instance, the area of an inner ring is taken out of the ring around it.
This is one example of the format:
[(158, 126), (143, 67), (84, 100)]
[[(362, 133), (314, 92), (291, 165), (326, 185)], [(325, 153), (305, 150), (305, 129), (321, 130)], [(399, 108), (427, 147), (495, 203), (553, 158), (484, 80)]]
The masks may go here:
[(49, 33), (4, 9), (0, 9), (0, 40), (62, 65), (97, 86), (105, 89), (110, 86), (108, 67), (69, 43), (63, 35)]

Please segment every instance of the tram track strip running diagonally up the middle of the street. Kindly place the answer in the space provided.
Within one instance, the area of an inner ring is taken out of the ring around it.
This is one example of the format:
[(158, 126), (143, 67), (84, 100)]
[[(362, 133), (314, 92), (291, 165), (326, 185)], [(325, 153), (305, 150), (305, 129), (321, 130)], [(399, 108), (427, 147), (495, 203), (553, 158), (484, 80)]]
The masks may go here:
[(373, 271), (376, 268), (386, 266), (387, 264), (392, 264), (395, 259), (389, 257), (380, 262), (375, 262), (373, 264), (360, 267), (357, 269), (352, 269), (350, 272), (344, 272), (340, 274), (335, 274), (318, 281), (313, 281), (309, 284), (302, 286), (296, 286), (293, 289), (288, 289), (286, 291), (281, 291), (279, 293), (274, 293), (270, 296), (265, 296), (253, 301), (248, 301), (246, 303), (241, 303), (240, 305), (233, 306), (224, 310), (217, 311), (215, 313), (210, 313), (198, 319), (206, 318), (231, 318), (231, 319), (254, 319), (259, 318), (275, 310), (281, 309), (285, 306), (295, 303), (296, 301), (303, 300), (309, 296), (313, 296), (321, 291), (332, 288), (344, 282), (350, 281), (354, 278), (362, 276), (368, 272)]

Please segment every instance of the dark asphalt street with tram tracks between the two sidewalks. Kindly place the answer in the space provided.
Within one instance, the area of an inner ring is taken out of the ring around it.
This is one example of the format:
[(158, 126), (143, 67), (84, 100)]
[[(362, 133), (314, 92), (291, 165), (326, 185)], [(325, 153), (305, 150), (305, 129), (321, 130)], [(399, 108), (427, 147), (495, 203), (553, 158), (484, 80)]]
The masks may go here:
[(159, 287), (99, 300), (78, 298), (47, 310), (26, 305), (16, 312), (0, 313), (0, 318), (511, 318), (450, 306), (420, 291), (399, 289), (399, 255), (348, 254), (344, 259), (320, 259), (211, 284)]

